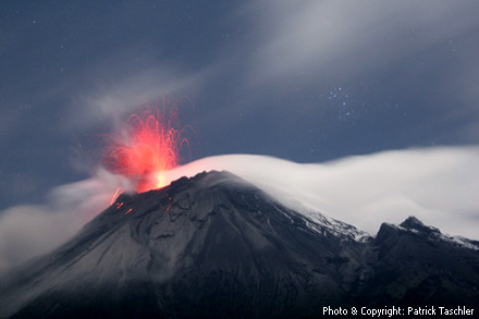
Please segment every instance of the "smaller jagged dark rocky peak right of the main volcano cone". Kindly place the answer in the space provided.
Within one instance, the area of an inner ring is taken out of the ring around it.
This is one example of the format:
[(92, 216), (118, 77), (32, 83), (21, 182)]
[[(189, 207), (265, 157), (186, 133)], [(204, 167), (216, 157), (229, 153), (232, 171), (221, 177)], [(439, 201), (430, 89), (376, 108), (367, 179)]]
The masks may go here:
[(365, 284), (363, 299), (398, 306), (478, 305), (479, 254), (472, 242), (463, 241), (414, 217), (400, 226), (382, 224), (374, 241), (374, 275)]

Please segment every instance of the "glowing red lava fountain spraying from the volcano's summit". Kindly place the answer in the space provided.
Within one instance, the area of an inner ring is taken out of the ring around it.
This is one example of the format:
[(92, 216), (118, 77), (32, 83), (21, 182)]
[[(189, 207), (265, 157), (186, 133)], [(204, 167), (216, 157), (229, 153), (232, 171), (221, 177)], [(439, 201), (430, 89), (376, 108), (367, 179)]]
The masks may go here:
[(163, 100), (163, 112), (146, 106), (139, 114), (132, 114), (125, 136), (111, 137), (112, 145), (103, 159), (108, 170), (131, 180), (138, 193), (165, 186), (164, 172), (179, 165), (183, 147), (189, 150), (183, 133), (191, 126), (176, 130), (177, 107), (169, 106), (168, 112), (165, 108)]

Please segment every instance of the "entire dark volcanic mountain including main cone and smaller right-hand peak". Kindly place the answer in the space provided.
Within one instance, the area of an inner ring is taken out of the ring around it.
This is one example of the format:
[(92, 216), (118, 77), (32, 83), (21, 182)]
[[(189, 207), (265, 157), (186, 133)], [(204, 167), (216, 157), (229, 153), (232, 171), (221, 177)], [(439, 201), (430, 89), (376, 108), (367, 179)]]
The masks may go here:
[[(121, 195), (0, 283), (0, 318), (271, 318), (479, 304), (479, 243), (414, 217), (376, 237), (211, 171)], [(479, 310), (479, 309), (478, 309)]]

